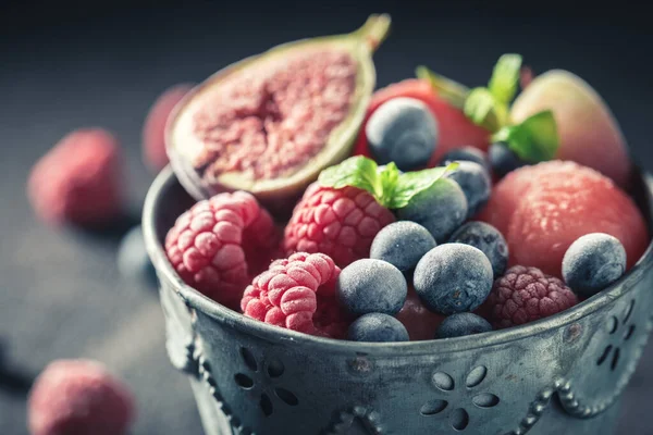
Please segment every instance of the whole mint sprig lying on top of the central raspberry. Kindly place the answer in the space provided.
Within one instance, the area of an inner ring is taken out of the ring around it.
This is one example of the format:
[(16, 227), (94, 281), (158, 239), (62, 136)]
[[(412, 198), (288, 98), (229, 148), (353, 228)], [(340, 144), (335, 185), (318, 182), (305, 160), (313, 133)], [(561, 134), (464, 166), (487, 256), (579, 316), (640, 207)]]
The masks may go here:
[(364, 156), (352, 157), (320, 173), (318, 182), (336, 189), (353, 186), (370, 192), (387, 209), (402, 209), (419, 192), (429, 189), (458, 163), (444, 167), (399, 173), (394, 163), (379, 167), (377, 162)]

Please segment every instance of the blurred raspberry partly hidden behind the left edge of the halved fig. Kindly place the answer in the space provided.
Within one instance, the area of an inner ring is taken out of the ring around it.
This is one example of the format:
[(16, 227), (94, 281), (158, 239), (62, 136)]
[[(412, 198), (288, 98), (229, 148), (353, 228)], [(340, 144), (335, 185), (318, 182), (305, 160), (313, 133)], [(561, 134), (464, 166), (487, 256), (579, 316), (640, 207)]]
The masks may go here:
[(175, 105), (193, 89), (190, 84), (180, 84), (168, 88), (157, 98), (143, 125), (143, 160), (152, 171), (160, 171), (168, 164), (165, 151), (165, 123)]

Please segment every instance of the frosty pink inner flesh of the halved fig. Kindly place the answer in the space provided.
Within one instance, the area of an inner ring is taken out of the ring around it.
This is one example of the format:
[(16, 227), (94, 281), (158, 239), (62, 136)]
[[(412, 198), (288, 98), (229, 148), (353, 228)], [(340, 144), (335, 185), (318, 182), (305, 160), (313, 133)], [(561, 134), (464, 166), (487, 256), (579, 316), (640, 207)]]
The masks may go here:
[(202, 97), (194, 134), (204, 142), (193, 165), (209, 177), (245, 172), (254, 179), (292, 173), (318, 154), (347, 115), (356, 61), (341, 50), (311, 50), (245, 69)]

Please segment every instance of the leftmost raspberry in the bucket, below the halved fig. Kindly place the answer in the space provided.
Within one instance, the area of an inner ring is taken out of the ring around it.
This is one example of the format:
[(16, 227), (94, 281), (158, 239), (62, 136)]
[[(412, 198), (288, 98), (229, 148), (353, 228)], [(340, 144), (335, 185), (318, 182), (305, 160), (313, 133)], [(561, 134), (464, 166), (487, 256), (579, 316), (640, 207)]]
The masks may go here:
[(252, 195), (224, 192), (176, 220), (165, 252), (186, 284), (236, 309), (250, 276), (274, 257), (278, 240), (272, 217)]

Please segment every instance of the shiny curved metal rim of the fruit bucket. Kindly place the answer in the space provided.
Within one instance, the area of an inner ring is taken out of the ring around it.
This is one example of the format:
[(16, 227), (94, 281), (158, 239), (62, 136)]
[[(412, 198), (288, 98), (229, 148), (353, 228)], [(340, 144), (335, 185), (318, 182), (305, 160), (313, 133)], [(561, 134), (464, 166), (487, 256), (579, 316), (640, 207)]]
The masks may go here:
[[(642, 177), (650, 192), (653, 188), (653, 177), (644, 173)], [(455, 338), (398, 343), (361, 343), (316, 337), (247, 318), (204, 296), (181, 279), (168, 261), (163, 246), (155, 231), (156, 212), (165, 200), (161, 194), (175, 182), (175, 174), (168, 165), (153, 181), (144, 204), (143, 232), (145, 244), (158, 273), (174, 285), (175, 291), (190, 308), (197, 309), (245, 334), (255, 335), (272, 343), (296, 343), (305, 347), (319, 347), (321, 350), (333, 352), (365, 352), (369, 356), (433, 355), (502, 345), (560, 328), (601, 310), (628, 294), (639, 282), (639, 277), (653, 265), (653, 243), (650, 243), (642, 257), (630, 271), (605, 290), (560, 313), (506, 330)]]

